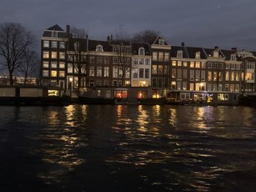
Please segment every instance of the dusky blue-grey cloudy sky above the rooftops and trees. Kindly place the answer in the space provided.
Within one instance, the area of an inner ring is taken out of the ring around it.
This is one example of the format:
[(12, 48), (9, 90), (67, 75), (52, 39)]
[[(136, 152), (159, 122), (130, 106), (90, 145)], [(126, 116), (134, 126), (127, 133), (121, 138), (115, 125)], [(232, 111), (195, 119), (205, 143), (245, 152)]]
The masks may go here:
[(256, 50), (255, 0), (1, 0), (0, 22), (22, 23), (37, 34), (66, 24), (106, 39), (153, 29), (170, 45)]

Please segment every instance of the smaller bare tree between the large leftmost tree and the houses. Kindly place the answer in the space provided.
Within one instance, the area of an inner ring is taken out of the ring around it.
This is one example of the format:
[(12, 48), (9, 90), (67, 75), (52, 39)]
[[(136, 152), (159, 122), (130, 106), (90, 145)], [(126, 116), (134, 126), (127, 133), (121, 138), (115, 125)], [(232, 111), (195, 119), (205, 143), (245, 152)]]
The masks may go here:
[(37, 77), (39, 66), (39, 58), (34, 50), (26, 48), (24, 51), (24, 58), (20, 66), (18, 67), (18, 74), (24, 78), (24, 85), (28, 81), (28, 77)]

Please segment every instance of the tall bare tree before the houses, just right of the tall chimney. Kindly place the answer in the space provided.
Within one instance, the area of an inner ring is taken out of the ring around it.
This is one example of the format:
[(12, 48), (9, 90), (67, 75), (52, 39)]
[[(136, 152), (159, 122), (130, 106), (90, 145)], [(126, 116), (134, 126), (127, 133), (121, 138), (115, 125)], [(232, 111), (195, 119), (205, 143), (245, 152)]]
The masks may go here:
[(86, 73), (86, 38), (87, 32), (84, 28), (73, 27), (67, 45), (68, 60), (72, 61), (72, 65), (78, 73), (78, 94), (80, 93), (81, 76)]

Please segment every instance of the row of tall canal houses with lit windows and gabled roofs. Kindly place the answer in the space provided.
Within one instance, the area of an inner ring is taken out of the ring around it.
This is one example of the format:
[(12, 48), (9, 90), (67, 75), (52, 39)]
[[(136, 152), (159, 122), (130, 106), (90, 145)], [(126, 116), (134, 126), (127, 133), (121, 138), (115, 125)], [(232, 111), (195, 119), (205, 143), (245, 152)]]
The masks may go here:
[[(88, 91), (99, 87), (151, 87), (152, 97), (176, 100), (237, 100), (255, 93), (256, 53), (236, 47), (171, 46), (163, 37), (150, 44), (108, 37), (72, 38), (55, 25), (44, 31), (42, 85)], [(232, 97), (232, 98), (231, 98)]]

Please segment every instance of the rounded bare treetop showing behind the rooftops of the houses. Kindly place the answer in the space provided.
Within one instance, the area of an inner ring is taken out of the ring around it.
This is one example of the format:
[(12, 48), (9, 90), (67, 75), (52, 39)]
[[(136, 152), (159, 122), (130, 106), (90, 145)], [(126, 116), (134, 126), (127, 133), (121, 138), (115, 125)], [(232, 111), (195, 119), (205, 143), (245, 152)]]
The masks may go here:
[(153, 30), (144, 30), (140, 31), (139, 33), (135, 34), (132, 37), (132, 42), (141, 42), (141, 43), (153, 43), (155, 39), (159, 36), (158, 31)]

